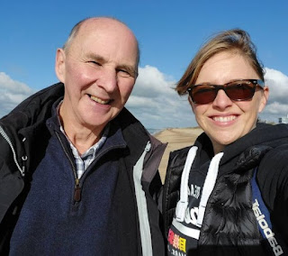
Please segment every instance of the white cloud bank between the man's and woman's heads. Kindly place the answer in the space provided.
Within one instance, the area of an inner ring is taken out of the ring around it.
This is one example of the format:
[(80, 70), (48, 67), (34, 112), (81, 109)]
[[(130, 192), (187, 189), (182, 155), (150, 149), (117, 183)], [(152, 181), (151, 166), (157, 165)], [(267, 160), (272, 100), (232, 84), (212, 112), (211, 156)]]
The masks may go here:
[(178, 96), (171, 80), (157, 68), (139, 68), (139, 78), (127, 102), (127, 108), (147, 128), (197, 125), (187, 96)]

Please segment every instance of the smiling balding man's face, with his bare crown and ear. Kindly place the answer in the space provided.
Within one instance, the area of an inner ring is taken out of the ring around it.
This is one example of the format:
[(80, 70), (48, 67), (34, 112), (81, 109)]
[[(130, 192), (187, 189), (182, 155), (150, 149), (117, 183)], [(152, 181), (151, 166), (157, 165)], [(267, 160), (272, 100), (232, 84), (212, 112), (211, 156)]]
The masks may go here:
[(101, 133), (130, 96), (137, 54), (137, 41), (123, 24), (109, 19), (83, 23), (69, 48), (57, 54), (56, 72), (65, 85), (64, 125)]

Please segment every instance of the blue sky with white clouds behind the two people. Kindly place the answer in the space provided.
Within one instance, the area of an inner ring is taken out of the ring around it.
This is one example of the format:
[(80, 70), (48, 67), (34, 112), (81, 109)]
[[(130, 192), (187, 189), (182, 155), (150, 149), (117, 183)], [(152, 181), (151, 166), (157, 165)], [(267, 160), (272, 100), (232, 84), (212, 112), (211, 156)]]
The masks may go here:
[(11, 1), (0, 2), (0, 117), (58, 82), (55, 53), (72, 27), (91, 16), (126, 23), (139, 41), (139, 77), (126, 107), (147, 128), (197, 126), (187, 96), (173, 87), (211, 35), (246, 30), (266, 69), (270, 96), (261, 120), (288, 114), (288, 2)]

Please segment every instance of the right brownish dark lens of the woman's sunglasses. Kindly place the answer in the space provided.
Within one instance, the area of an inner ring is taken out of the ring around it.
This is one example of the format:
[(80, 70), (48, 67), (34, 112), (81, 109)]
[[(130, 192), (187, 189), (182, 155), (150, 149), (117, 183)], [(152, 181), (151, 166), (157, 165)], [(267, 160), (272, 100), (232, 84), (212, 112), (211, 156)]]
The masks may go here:
[(247, 100), (254, 96), (255, 85), (249, 81), (235, 82), (227, 85), (225, 91), (232, 100)]

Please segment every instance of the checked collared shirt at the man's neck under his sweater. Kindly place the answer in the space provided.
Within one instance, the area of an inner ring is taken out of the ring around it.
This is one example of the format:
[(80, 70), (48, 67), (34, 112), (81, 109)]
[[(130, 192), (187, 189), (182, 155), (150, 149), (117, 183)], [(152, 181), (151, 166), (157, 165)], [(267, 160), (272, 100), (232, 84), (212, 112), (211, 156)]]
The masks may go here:
[[(58, 110), (60, 108), (60, 105), (62, 102), (59, 103), (58, 105)], [(60, 125), (60, 131), (66, 136), (67, 142), (69, 142), (70, 148), (72, 150), (75, 162), (76, 162), (76, 173), (77, 173), (77, 178), (81, 178), (85, 170), (88, 168), (88, 166), (94, 161), (96, 157), (96, 153), (102, 148), (104, 142), (107, 139), (109, 130), (110, 130), (110, 123), (108, 123), (103, 131), (103, 135), (99, 142), (96, 142), (91, 148), (89, 148), (85, 153), (82, 155), (79, 154), (77, 151), (76, 147), (73, 145), (73, 143), (69, 140), (67, 137), (67, 134), (64, 131), (64, 128), (60, 122), (59, 114), (58, 114), (58, 122)]]

